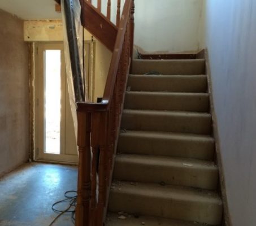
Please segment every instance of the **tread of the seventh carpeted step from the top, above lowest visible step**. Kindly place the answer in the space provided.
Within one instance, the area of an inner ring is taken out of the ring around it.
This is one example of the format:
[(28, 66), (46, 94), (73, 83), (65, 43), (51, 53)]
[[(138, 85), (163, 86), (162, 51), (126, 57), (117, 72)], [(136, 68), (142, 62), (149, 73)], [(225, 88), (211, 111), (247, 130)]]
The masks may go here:
[(179, 201), (192, 201), (212, 203), (222, 206), (219, 194), (210, 190), (196, 189), (185, 186), (165, 185), (149, 182), (113, 181), (111, 192), (132, 194), (147, 198), (171, 199)]

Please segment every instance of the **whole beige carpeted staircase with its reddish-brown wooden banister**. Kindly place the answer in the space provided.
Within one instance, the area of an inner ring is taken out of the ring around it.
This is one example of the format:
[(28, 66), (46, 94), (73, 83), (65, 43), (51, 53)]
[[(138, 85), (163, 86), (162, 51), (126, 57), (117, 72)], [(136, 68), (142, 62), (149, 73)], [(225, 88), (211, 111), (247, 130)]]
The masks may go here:
[(79, 1), (83, 27), (112, 58), (101, 103), (85, 102), (74, 12), (63, 1), (77, 104), (75, 225), (221, 225), (205, 60), (132, 60), (134, 0), (125, 0), (122, 16), (116, 0), (116, 24), (111, 0), (107, 16), (101, 0), (97, 8)]

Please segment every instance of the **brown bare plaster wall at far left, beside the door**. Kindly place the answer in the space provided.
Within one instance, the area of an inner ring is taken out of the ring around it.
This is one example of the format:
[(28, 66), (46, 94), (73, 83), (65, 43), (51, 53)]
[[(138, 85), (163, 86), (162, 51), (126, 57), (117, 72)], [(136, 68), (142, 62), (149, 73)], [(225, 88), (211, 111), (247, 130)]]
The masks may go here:
[(23, 21), (0, 10), (0, 175), (28, 160), (28, 45)]

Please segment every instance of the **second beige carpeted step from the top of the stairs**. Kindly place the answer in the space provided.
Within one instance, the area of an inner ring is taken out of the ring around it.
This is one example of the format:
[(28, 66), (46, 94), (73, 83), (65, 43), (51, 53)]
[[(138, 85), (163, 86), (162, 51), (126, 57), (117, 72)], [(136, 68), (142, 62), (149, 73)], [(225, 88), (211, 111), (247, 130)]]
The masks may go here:
[(127, 86), (131, 91), (168, 91), (204, 93), (206, 75), (129, 75)]

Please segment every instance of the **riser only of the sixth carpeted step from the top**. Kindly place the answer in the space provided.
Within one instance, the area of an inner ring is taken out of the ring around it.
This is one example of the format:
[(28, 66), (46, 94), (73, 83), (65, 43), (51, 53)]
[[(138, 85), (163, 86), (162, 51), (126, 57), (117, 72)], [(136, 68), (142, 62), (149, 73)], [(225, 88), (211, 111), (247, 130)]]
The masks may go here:
[(125, 162), (117, 157), (114, 179), (119, 181), (164, 182), (171, 185), (214, 190), (218, 185), (218, 169), (182, 165), (156, 166), (153, 164)]

